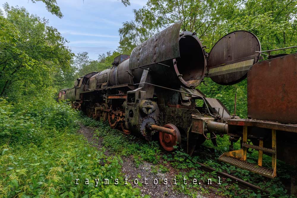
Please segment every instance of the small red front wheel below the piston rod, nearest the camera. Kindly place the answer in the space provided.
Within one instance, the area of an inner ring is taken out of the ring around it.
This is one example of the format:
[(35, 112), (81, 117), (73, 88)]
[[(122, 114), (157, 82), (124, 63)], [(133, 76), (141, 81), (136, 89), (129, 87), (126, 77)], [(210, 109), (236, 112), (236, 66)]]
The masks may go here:
[(176, 131), (176, 135), (170, 135), (167, 133), (159, 132), (159, 141), (161, 146), (166, 151), (173, 151), (173, 146), (176, 146), (176, 142), (178, 142), (179, 144), (181, 143), (181, 134), (179, 133), (178, 128), (173, 124), (166, 124), (163, 127), (174, 129)]

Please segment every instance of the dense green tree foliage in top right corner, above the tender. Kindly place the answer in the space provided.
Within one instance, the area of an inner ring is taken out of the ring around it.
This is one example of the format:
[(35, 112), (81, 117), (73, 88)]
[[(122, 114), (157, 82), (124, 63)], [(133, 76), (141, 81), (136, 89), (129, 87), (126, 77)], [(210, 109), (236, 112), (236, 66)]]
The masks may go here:
[(294, 46), (297, 42), (296, 7), (296, 0), (248, 0), (222, 28), (251, 31), (259, 38), (263, 50)]

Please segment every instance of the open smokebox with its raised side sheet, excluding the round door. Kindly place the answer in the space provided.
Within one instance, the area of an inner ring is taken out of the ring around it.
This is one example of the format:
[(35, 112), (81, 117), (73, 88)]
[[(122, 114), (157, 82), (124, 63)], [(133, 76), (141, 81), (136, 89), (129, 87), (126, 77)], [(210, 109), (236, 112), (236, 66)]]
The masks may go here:
[(142, 69), (147, 69), (158, 85), (190, 88), (200, 84), (206, 72), (203, 47), (195, 33), (180, 34), (181, 24), (182, 20), (134, 48), (129, 62), (134, 77), (140, 78)]

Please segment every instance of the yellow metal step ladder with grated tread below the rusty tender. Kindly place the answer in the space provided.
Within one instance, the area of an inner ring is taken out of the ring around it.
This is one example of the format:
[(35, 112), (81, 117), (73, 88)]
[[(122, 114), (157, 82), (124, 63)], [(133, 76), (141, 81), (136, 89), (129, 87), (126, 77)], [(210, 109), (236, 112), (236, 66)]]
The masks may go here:
[[(219, 160), (232, 164), (236, 167), (258, 173), (268, 178), (276, 176), (276, 131), (272, 129), (272, 148), (263, 148), (263, 140), (260, 140), (259, 146), (247, 144), (247, 126), (243, 126), (242, 149), (223, 153)], [(247, 162), (247, 148), (253, 148), (259, 151), (258, 164)], [(272, 169), (262, 167), (263, 151), (272, 154)]]

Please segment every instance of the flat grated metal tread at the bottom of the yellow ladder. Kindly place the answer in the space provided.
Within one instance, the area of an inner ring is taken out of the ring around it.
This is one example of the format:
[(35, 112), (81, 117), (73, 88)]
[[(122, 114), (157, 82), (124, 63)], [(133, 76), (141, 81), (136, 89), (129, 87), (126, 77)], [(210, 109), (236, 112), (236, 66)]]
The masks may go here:
[(273, 169), (269, 169), (266, 167), (262, 167), (262, 166), (258, 166), (257, 164), (253, 164), (253, 163), (249, 163), (247, 161), (243, 161), (234, 157), (230, 157), (230, 156), (220, 156), (219, 157), (220, 161), (232, 164), (236, 167), (245, 169), (245, 170), (249, 170), (251, 172), (255, 172), (258, 173), (260, 175), (266, 176), (268, 178), (274, 178), (275, 175), (273, 175)]

